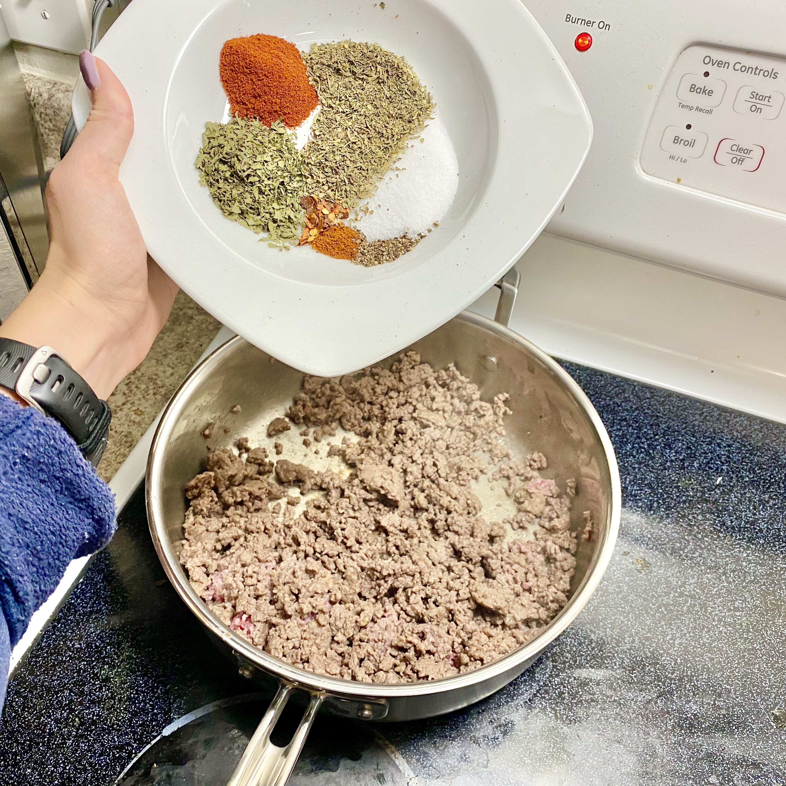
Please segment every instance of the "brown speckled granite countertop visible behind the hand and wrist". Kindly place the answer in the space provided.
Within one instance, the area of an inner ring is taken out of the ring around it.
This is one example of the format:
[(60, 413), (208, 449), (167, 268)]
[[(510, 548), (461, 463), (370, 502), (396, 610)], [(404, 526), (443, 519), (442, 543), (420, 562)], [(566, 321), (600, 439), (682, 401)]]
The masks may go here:
[[(44, 167), (60, 160), (60, 142), (71, 116), (71, 91), (79, 72), (76, 57), (17, 44), (17, 57), (39, 131)], [(147, 358), (109, 397), (112, 424), (98, 472), (108, 480), (123, 464), (221, 325), (184, 292)]]

